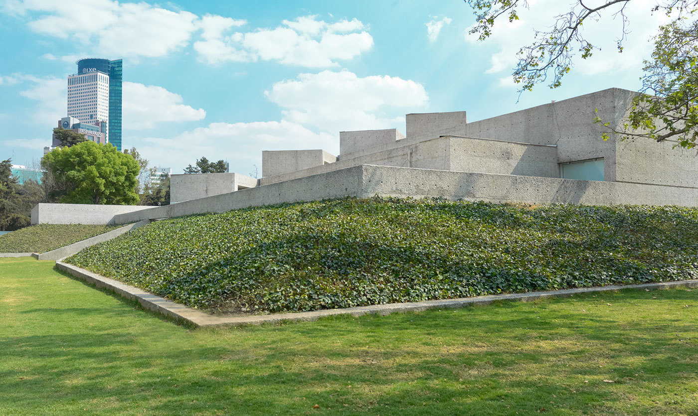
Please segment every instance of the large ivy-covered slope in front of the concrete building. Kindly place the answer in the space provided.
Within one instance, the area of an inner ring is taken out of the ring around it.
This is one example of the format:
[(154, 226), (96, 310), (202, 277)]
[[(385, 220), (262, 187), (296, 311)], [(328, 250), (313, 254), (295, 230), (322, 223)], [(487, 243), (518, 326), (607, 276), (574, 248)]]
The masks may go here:
[(67, 260), (214, 311), (698, 278), (698, 209), (330, 200), (158, 221)]

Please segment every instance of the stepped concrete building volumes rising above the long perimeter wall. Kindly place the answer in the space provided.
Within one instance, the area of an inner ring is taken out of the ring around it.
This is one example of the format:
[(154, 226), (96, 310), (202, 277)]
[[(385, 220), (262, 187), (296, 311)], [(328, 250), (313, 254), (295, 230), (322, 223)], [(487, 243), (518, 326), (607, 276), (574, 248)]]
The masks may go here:
[[(603, 140), (605, 128), (593, 123), (594, 117), (622, 129), (634, 94), (607, 89), (470, 123), (465, 111), (407, 114), (405, 135), (394, 128), (340, 132), (339, 156), (320, 149), (264, 151), (258, 186), (378, 165), (678, 186), (697, 192), (695, 151), (672, 149), (671, 141), (623, 141), (616, 135)], [(204, 195), (237, 191), (232, 178), (223, 183), (196, 175), (186, 187)], [(172, 183), (172, 202), (191, 199), (182, 199), (179, 185)]]

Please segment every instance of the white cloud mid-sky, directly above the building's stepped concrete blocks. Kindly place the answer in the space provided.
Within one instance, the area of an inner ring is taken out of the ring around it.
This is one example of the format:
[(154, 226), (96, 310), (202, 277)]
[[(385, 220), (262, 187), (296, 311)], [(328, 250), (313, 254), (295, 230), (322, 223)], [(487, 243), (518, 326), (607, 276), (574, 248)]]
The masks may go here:
[(418, 82), (388, 75), (358, 77), (348, 70), (300, 74), (276, 82), (265, 94), (284, 109), (284, 119), (333, 134), (395, 128), (403, 122), (404, 110), (429, 103)]

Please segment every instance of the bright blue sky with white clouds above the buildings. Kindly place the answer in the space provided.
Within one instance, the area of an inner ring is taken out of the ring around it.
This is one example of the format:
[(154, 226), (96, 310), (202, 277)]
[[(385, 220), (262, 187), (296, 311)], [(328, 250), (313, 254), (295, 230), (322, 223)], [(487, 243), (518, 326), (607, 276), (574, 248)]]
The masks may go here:
[[(598, 1), (597, 1), (598, 2)], [(620, 20), (588, 24), (602, 50), (563, 87), (520, 100), (514, 54), (567, 6), (529, 1), (486, 42), (472, 10), (443, 1), (0, 0), (0, 159), (31, 164), (66, 116), (75, 59), (124, 59), (124, 147), (174, 173), (197, 158), (261, 170), (262, 150), (336, 154), (339, 131), (398, 128), (411, 112), (468, 112), (468, 121), (609, 87), (639, 88), (647, 40), (662, 16), (637, 0)], [(561, 4), (564, 3), (564, 4)]]

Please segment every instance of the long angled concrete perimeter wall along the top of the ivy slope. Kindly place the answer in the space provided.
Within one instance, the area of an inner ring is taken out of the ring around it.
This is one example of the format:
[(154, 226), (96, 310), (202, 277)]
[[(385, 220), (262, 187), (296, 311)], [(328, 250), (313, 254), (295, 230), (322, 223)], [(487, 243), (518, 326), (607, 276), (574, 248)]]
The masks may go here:
[(116, 223), (329, 198), (441, 197), (450, 200), (698, 206), (698, 189), (625, 182), (361, 165), (114, 217)]

